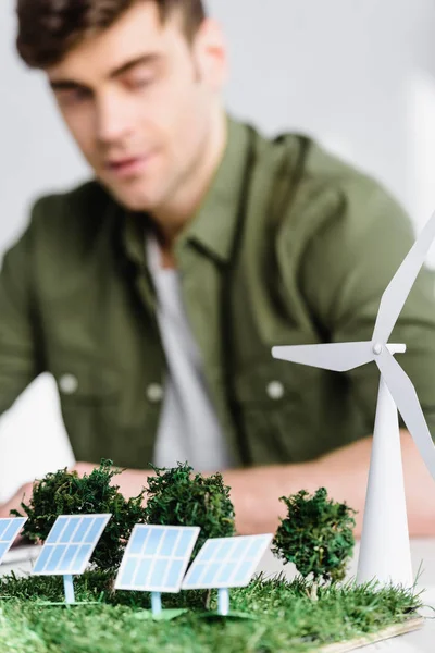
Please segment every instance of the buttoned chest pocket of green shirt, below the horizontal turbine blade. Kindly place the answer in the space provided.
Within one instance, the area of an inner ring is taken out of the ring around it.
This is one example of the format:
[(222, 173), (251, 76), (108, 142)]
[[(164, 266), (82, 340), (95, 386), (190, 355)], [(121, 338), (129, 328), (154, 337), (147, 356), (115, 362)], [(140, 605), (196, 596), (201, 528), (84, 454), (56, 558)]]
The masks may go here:
[(238, 372), (235, 393), (240, 446), (257, 465), (318, 458), (359, 429), (345, 374), (272, 359)]

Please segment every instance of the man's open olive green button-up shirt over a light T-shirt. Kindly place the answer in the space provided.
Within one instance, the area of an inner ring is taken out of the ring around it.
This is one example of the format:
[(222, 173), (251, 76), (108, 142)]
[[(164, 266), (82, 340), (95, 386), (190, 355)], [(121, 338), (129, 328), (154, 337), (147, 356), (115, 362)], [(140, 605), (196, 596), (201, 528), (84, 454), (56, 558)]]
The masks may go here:
[[(273, 345), (370, 340), (413, 242), (373, 180), (309, 138), (228, 119), (224, 159), (176, 243), (187, 315), (238, 465), (302, 461), (370, 434), (378, 371), (275, 360)], [(146, 262), (148, 218), (96, 181), (38, 199), (0, 275), (0, 414), (58, 381), (77, 459), (147, 467), (165, 356)], [(435, 303), (424, 270), (390, 342), (435, 432)]]

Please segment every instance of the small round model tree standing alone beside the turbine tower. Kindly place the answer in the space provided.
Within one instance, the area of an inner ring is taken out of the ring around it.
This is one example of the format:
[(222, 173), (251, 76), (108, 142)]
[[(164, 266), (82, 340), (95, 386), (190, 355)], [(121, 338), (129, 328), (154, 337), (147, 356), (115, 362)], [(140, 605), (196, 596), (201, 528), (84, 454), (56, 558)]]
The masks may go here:
[(311, 575), (315, 597), (321, 581), (331, 583), (345, 577), (355, 545), (356, 513), (346, 504), (328, 500), (325, 488), (313, 496), (301, 490), (281, 501), (288, 515), (281, 520), (272, 551), (284, 563), (294, 563), (303, 578)]

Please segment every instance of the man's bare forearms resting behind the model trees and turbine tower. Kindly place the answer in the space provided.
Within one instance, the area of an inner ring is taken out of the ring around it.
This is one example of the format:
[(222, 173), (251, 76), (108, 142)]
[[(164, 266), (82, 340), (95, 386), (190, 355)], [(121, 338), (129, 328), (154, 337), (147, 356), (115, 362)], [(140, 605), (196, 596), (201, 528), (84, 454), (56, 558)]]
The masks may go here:
[[(224, 471), (224, 482), (232, 489), (237, 532), (275, 532), (279, 517), (285, 516), (281, 496), (302, 489), (313, 493), (324, 486), (332, 498), (346, 502), (358, 512), (355, 533), (360, 537), (371, 446), (372, 439), (365, 438), (309, 463)], [(401, 448), (410, 535), (435, 537), (435, 482), (407, 431), (401, 431)], [(94, 467), (89, 463), (78, 463), (75, 469), (83, 476)], [(112, 482), (120, 485), (124, 496), (137, 496), (150, 473), (153, 472), (128, 469), (115, 476)], [(12, 508), (20, 509), (23, 494), (28, 502), (32, 483), (0, 506), (0, 517), (8, 517)]]

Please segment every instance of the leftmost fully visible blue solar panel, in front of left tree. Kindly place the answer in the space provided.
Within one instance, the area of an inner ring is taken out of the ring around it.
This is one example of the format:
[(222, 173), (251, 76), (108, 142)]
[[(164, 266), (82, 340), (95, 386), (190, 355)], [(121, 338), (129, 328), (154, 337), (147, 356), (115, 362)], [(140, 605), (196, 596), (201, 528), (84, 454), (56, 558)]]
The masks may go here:
[(32, 574), (83, 574), (111, 515), (62, 515), (55, 520)]

